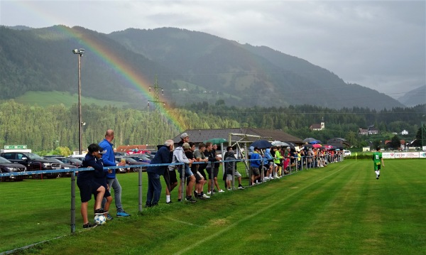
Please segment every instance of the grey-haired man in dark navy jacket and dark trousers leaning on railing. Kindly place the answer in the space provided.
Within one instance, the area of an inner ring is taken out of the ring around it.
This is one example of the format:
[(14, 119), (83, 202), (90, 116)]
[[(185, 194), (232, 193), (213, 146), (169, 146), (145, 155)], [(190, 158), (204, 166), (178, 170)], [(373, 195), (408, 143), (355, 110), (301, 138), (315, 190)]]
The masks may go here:
[[(158, 150), (155, 153), (151, 164), (172, 163), (173, 160), (173, 140), (165, 141), (164, 145), (157, 146)], [(161, 195), (160, 175), (168, 171), (168, 166), (153, 166), (148, 167), (148, 192), (146, 193), (146, 207), (158, 205)]]

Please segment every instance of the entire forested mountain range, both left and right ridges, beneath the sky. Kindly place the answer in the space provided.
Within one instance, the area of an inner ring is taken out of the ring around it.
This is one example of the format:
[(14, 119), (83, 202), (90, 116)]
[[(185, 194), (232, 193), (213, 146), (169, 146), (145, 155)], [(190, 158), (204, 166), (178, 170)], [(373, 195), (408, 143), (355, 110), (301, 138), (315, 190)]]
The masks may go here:
[(244, 107), (403, 107), (300, 58), (178, 28), (129, 28), (106, 35), (81, 27), (1, 26), (0, 99), (27, 91), (77, 92), (74, 48), (86, 49), (84, 96), (129, 102), (136, 108), (146, 106), (140, 87), (153, 85), (155, 75), (165, 100), (173, 105), (224, 100)]

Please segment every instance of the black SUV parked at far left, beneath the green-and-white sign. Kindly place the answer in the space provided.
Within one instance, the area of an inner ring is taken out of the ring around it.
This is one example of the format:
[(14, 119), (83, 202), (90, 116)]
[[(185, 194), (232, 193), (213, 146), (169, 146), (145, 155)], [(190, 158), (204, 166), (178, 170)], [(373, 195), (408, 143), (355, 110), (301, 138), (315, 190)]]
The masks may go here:
[[(26, 166), (28, 171), (36, 170), (55, 170), (60, 169), (60, 163), (51, 159), (46, 159), (38, 156), (35, 153), (23, 152), (4, 152), (1, 153), (3, 158), (8, 159), (13, 163), (19, 163)], [(45, 173), (43, 176), (46, 178), (57, 178), (59, 173)], [(40, 175), (33, 175), (32, 178), (39, 178)]]

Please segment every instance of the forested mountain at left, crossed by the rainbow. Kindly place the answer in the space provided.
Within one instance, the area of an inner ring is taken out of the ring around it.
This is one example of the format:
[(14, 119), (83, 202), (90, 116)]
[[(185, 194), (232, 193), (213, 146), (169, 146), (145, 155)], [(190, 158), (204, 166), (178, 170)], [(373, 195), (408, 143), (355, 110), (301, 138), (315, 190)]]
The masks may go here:
[(82, 95), (87, 97), (146, 102), (118, 63), (128, 73), (143, 74), (148, 85), (154, 82), (156, 73), (170, 72), (106, 35), (85, 28), (12, 30), (0, 26), (0, 99), (15, 98), (27, 91), (77, 93), (78, 60), (72, 54), (75, 48), (86, 50), (81, 58), (81, 76)]

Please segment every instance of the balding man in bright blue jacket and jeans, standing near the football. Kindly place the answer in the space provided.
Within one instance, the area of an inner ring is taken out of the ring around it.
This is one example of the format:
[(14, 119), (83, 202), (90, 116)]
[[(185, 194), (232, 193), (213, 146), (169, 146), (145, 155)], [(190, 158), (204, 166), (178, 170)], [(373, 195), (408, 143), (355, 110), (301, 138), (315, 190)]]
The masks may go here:
[[(115, 163), (114, 156), (114, 148), (112, 144), (112, 140), (114, 139), (114, 130), (108, 129), (105, 133), (105, 139), (99, 143), (99, 146), (106, 151), (102, 154), (102, 161), (104, 161), (104, 166), (124, 166), (125, 163), (119, 163), (118, 165)], [(119, 183), (119, 179), (116, 178), (116, 173), (113, 170), (111, 173), (107, 174), (107, 182), (109, 185), (109, 189), (111, 187), (114, 189), (114, 200), (117, 209), (117, 217), (128, 217), (130, 216), (127, 212), (124, 212), (123, 206), (121, 205), (121, 185)], [(106, 200), (102, 201), (102, 207), (104, 207), (104, 203)], [(108, 218), (111, 218), (111, 215), (108, 215)]]

